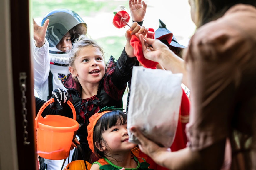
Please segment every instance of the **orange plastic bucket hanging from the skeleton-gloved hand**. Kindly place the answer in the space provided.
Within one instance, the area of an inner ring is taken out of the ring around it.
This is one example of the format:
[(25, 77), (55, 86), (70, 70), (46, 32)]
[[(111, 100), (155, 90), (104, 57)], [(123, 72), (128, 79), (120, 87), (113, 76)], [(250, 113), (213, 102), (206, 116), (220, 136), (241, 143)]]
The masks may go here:
[(37, 153), (46, 159), (61, 160), (69, 156), (78, 123), (75, 108), (70, 101), (67, 104), (72, 109), (73, 119), (60, 115), (47, 115), (43, 118), (41, 116), (43, 110), (52, 102), (54, 102), (53, 98), (44, 103), (36, 116)]

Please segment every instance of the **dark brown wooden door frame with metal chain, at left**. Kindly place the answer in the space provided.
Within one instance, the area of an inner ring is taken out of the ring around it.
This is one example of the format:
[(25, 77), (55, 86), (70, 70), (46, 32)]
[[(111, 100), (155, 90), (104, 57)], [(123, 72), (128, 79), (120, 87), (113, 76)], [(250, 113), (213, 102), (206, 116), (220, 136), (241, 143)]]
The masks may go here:
[[(13, 94), (14, 94), (14, 111), (16, 125), (16, 142), (19, 169), (36, 169), (36, 148), (34, 135), (35, 119), (35, 99), (33, 91), (33, 71), (31, 57), (31, 22), (32, 18), (29, 13), (29, 0), (10, 0), (11, 16), (11, 56), (12, 56), (12, 77), (13, 77)], [(21, 74), (26, 75), (22, 80)], [(23, 98), (21, 84), (26, 85), (26, 91)], [(23, 99), (22, 99), (23, 98)], [(24, 104), (23, 101), (26, 101)], [(26, 107), (27, 126), (24, 127), (24, 112)], [(27, 139), (24, 139), (27, 131)], [(24, 141), (29, 144), (24, 144)]]

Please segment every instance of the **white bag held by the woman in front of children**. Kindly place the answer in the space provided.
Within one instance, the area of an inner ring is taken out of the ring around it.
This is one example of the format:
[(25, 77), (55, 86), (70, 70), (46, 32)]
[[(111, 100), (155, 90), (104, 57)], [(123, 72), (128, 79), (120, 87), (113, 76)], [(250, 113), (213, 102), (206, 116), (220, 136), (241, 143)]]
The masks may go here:
[(133, 67), (127, 112), (129, 142), (139, 144), (129, 131), (136, 126), (157, 144), (172, 145), (179, 118), (182, 76), (167, 70)]

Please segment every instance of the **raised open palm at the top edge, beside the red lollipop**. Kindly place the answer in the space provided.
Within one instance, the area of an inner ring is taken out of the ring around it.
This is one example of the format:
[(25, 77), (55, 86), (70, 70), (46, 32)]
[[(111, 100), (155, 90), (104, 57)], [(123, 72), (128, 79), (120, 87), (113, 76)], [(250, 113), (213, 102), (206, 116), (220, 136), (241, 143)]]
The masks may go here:
[(129, 9), (133, 21), (141, 22), (145, 17), (147, 4), (141, 1), (142, 0), (129, 0)]

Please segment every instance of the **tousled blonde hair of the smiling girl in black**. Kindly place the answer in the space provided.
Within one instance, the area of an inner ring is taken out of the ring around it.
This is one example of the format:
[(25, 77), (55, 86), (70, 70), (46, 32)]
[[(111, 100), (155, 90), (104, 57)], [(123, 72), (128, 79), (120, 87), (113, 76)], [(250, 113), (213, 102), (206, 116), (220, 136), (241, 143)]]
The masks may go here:
[[(100, 47), (96, 41), (87, 38), (86, 35), (82, 34), (77, 38), (73, 44), (72, 49), (68, 52), (69, 53), (69, 66), (74, 67), (74, 62), (76, 57), (79, 55), (80, 50), (84, 47), (96, 47), (100, 50), (102, 53), (102, 57), (105, 60), (104, 52), (102, 50), (102, 47)], [(73, 77), (75, 81), (78, 82), (77, 77)]]

